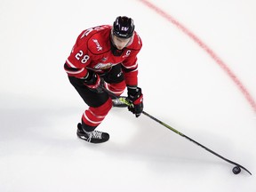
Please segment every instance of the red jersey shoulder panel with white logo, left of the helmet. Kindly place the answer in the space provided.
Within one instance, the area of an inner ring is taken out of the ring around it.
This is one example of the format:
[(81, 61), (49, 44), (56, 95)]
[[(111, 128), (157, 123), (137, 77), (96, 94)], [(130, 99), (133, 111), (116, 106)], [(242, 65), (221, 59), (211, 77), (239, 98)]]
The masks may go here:
[(93, 33), (88, 39), (87, 49), (92, 52), (92, 54), (98, 55), (110, 50), (109, 35), (111, 31), (111, 26), (102, 26)]

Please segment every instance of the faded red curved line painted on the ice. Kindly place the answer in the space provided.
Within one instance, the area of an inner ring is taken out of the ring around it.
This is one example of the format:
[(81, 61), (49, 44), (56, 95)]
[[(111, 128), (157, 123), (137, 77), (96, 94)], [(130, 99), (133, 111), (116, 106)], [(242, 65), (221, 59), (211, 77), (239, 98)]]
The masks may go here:
[(252, 106), (254, 112), (256, 112), (256, 102), (255, 100), (253, 100), (250, 92), (247, 91), (247, 89), (244, 87), (244, 84), (242, 84), (242, 82), (231, 71), (231, 69), (228, 68), (228, 66), (224, 63), (224, 61), (221, 60), (220, 57), (216, 55), (216, 53), (213, 52), (209, 46), (204, 44), (204, 42), (202, 42), (195, 34), (189, 31), (188, 28), (185, 28), (178, 20), (175, 20), (174, 18), (172, 18), (171, 15), (167, 14), (162, 9), (158, 8), (155, 4), (151, 4), (147, 0), (138, 0), (138, 1), (148, 6), (148, 8), (150, 8), (151, 10), (154, 10), (155, 12), (157, 12), (159, 15), (164, 17), (164, 19), (169, 20), (173, 25), (175, 25), (177, 28), (180, 28), (180, 30), (183, 33), (185, 33), (190, 38), (192, 38), (196, 42), (196, 44), (198, 44), (202, 49), (204, 49), (204, 51), (207, 52), (212, 57), (212, 59), (215, 60), (215, 62), (220, 66), (220, 68), (222, 68), (228, 74), (228, 76), (233, 80), (233, 82), (236, 84), (239, 90), (244, 94), (244, 97), (246, 98), (246, 100)]

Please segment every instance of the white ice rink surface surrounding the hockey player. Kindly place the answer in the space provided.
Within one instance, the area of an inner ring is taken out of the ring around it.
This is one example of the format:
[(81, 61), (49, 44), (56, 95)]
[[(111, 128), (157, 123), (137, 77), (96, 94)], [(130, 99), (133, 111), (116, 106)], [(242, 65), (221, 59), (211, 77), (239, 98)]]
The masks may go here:
[[(1, 192), (256, 191), (255, 1), (150, 3), (162, 12), (137, 0), (1, 0)], [(112, 24), (118, 15), (133, 18), (143, 41), (145, 111), (252, 176), (234, 175), (233, 165), (126, 108), (113, 108), (100, 124), (108, 142), (76, 138), (87, 107), (64, 61), (82, 30)]]

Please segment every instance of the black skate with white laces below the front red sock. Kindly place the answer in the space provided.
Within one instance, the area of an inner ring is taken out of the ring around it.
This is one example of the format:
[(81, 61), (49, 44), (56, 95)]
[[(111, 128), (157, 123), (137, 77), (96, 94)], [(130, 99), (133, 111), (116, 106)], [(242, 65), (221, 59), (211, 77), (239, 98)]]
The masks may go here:
[(93, 131), (93, 132), (84, 132), (82, 128), (82, 124), (77, 124), (77, 137), (79, 137), (82, 140), (86, 140), (87, 142), (92, 143), (102, 143), (109, 140), (109, 134), (108, 132), (99, 132), (99, 131)]

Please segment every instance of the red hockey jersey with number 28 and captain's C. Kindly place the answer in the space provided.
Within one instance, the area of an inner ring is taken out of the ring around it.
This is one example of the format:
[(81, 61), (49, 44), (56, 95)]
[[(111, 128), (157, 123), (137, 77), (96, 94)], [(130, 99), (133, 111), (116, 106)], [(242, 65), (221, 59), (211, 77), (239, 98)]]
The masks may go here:
[(110, 43), (111, 28), (109, 25), (88, 28), (77, 37), (64, 66), (68, 76), (82, 78), (86, 76), (88, 69), (102, 74), (121, 63), (125, 83), (138, 84), (137, 54), (142, 46), (140, 36), (134, 31), (132, 42), (124, 48), (120, 56), (114, 56)]

